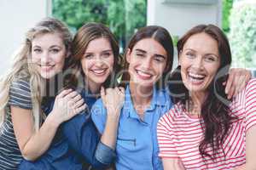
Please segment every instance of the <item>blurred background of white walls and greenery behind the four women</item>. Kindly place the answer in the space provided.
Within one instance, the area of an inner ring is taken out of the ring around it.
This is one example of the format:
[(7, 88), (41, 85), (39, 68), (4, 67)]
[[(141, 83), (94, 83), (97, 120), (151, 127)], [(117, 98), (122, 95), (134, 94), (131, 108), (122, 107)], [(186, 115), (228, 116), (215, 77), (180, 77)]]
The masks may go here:
[(46, 16), (66, 22), (73, 33), (86, 22), (102, 22), (121, 52), (143, 26), (164, 26), (176, 44), (191, 27), (214, 24), (229, 37), (232, 66), (250, 69), (256, 77), (256, 0), (0, 0), (0, 74), (25, 32)]

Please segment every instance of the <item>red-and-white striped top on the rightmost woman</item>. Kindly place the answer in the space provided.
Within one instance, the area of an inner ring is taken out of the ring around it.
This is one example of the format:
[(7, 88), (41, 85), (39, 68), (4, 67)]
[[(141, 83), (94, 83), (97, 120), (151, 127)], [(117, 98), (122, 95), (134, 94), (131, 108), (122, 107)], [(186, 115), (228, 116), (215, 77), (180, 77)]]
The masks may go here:
[[(256, 125), (256, 79), (230, 104), (230, 111), (237, 119), (232, 122), (230, 132), (224, 139), (223, 151), (217, 151), (214, 161), (200, 155), (199, 144), (203, 131), (199, 118), (189, 116), (181, 104), (160, 118), (157, 127), (161, 158), (180, 159), (185, 169), (226, 169), (239, 167), (246, 162), (246, 132)], [(207, 147), (212, 155), (212, 149)]]

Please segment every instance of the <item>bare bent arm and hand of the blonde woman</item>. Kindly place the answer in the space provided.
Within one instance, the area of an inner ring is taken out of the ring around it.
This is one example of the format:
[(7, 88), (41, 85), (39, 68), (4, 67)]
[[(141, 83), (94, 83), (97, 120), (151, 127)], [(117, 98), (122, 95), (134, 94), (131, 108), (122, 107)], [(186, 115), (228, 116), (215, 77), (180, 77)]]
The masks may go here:
[(70, 92), (65, 90), (56, 97), (53, 111), (38, 131), (34, 129), (32, 110), (11, 106), (15, 137), (20, 152), (26, 160), (33, 161), (43, 155), (49, 148), (61, 122), (68, 120), (84, 109), (83, 101), (79, 99), (78, 94)]

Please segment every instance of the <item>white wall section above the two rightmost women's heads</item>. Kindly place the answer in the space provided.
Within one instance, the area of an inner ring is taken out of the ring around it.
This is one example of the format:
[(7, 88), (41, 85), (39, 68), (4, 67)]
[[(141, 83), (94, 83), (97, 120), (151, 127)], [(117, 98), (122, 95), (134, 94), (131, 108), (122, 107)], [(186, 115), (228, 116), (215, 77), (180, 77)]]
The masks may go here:
[[(189, 2), (189, 0), (187, 1)], [(208, 0), (198, 1), (206, 2)], [(181, 37), (190, 28), (199, 24), (211, 23), (221, 26), (221, 15), (222, 0), (217, 0), (217, 3), (213, 4), (148, 0), (147, 25), (163, 26), (172, 36)], [(175, 59), (175, 65), (177, 65), (177, 59)]]

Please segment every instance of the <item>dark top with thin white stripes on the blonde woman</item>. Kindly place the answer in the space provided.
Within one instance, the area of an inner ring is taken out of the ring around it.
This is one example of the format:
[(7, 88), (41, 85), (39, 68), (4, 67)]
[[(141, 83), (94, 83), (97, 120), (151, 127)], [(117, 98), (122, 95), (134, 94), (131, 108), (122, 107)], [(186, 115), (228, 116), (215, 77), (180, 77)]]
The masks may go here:
[(5, 120), (0, 127), (0, 169), (17, 169), (22, 159), (19, 146), (15, 139), (13, 123), (10, 115), (10, 105), (23, 109), (32, 109), (29, 82), (17, 80), (12, 82), (9, 91), (9, 103), (5, 108)]

